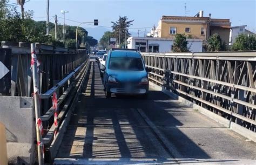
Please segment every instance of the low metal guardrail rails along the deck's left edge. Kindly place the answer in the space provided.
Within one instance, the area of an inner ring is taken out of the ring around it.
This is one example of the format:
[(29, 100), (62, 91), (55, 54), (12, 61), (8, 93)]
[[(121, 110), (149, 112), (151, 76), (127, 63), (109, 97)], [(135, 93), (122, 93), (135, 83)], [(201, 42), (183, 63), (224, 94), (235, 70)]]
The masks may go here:
[(50, 107), (48, 111), (41, 116), (43, 123), (47, 123), (47, 125), (44, 125), (43, 135), (43, 143), (47, 155), (45, 160), (52, 160), (52, 158), (57, 154), (57, 149), (62, 141), (71, 113), (75, 108), (78, 94), (82, 89), (82, 84), (84, 83), (89, 67), (90, 60), (87, 59), (56, 86), (53, 86), (49, 91), (40, 95), (41, 99), (47, 100), (52, 96), (53, 92), (57, 92), (60, 88), (64, 87), (65, 83), (70, 81), (65, 91), (58, 97), (58, 127), (56, 128), (53, 124), (53, 114), (55, 113), (55, 109), (53, 107)]

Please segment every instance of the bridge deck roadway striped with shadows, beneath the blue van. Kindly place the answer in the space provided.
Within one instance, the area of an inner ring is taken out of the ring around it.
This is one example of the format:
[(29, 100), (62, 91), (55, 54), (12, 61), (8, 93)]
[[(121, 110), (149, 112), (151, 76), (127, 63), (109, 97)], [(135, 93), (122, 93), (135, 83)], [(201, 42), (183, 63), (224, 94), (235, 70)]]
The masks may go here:
[(92, 63), (55, 163), (252, 161), (255, 147), (152, 87), (147, 99), (106, 99), (99, 67)]

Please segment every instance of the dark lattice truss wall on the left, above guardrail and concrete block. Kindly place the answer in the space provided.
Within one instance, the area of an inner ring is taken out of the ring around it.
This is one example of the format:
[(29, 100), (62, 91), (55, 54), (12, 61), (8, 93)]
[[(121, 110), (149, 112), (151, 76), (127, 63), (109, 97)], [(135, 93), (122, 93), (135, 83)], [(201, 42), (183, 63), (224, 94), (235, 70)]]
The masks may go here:
[[(11, 51), (8, 51), (10, 49)], [(11, 65), (9, 77), (0, 87), (2, 95), (31, 97), (31, 52), (29, 43), (2, 42), (2, 53), (7, 53), (5, 59), (10, 59), (7, 65)], [(64, 49), (43, 44), (36, 44), (36, 53), (40, 63), (40, 87), (44, 93), (58, 81), (66, 77), (71, 71), (85, 61), (85, 52)]]

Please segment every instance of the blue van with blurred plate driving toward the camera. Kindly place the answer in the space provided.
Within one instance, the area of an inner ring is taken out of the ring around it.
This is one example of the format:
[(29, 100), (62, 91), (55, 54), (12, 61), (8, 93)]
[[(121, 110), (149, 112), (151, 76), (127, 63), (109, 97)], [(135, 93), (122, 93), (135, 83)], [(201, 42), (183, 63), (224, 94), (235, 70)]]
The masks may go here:
[(149, 68), (145, 67), (137, 50), (112, 49), (107, 54), (103, 68), (103, 84), (106, 97), (115, 94), (140, 94), (146, 97), (149, 91)]

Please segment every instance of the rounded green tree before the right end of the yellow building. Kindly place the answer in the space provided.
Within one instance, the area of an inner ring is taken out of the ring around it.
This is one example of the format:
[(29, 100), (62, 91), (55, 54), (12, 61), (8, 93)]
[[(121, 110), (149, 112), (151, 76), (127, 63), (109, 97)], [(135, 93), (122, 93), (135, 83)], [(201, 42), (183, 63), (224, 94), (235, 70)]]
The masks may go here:
[(218, 34), (214, 34), (207, 40), (206, 49), (208, 52), (225, 51), (226, 44), (222, 42)]

